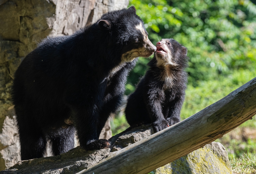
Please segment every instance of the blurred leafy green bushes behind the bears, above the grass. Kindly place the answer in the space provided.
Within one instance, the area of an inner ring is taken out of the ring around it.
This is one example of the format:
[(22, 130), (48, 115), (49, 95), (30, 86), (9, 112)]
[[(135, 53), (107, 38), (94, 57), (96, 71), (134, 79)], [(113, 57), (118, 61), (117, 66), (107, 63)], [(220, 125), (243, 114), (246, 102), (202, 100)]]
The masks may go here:
[[(158, 38), (174, 38), (188, 48), (187, 71), (193, 86), (235, 69), (255, 72), (256, 6), (251, 1), (131, 0), (130, 5), (136, 7), (153, 44)], [(129, 85), (144, 75), (146, 62), (140, 58)], [(127, 87), (126, 94), (133, 89)]]

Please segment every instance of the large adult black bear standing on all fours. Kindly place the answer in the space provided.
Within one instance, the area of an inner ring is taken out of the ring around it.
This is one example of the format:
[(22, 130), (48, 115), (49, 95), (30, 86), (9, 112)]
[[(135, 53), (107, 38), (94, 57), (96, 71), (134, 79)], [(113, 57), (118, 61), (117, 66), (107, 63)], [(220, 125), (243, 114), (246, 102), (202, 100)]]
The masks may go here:
[(43, 40), (13, 82), (21, 159), (42, 157), (47, 140), (54, 155), (67, 152), (74, 128), (83, 148), (109, 147), (99, 135), (120, 105), (127, 74), (136, 57), (155, 50), (135, 7), (108, 12), (73, 35)]

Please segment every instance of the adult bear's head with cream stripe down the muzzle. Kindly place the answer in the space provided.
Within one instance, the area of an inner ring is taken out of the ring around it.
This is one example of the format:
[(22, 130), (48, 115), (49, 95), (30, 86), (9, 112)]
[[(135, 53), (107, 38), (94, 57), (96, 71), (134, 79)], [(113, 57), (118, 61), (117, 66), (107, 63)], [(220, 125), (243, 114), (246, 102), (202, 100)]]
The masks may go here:
[(120, 54), (123, 62), (131, 62), (136, 57), (149, 57), (156, 50), (133, 6), (108, 12), (97, 23), (109, 36), (108, 44)]

